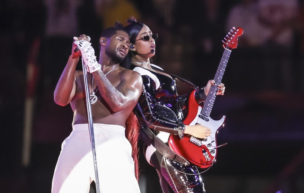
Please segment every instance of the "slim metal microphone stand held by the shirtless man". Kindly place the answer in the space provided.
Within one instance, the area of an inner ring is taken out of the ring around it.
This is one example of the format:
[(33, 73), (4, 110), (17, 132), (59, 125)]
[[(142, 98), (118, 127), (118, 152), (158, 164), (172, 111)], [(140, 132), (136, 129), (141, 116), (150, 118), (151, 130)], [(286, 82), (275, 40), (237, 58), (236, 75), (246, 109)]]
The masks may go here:
[(84, 64), (84, 58), (81, 57), (82, 62), (82, 71), (84, 74), (84, 86), (85, 86), (85, 94), (86, 94), (86, 102), (87, 102), (87, 111), (88, 111), (88, 123), (89, 123), (89, 133), (90, 133), (90, 141), (91, 148), (93, 153), (93, 161), (94, 161), (94, 169), (95, 169), (95, 184), (96, 191), (100, 193), (99, 189), (99, 179), (98, 179), (98, 169), (97, 169), (97, 160), (96, 160), (96, 150), (95, 150), (95, 137), (94, 137), (94, 128), (93, 128), (93, 117), (92, 117), (92, 109), (91, 109), (91, 101), (90, 101), (90, 91), (88, 86), (88, 72), (87, 67)]

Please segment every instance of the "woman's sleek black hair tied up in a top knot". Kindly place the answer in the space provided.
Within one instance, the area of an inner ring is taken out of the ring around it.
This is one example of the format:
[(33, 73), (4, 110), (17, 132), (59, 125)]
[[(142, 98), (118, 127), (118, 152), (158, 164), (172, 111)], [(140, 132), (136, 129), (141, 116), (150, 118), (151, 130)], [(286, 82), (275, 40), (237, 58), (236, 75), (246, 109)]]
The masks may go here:
[[(138, 33), (140, 32), (140, 30), (142, 30), (142, 27), (145, 24), (142, 22), (137, 22), (133, 16), (127, 20), (127, 23), (129, 23), (129, 25), (124, 27), (124, 30), (130, 36), (130, 43), (135, 44), (136, 37), (137, 37)], [(120, 63), (120, 66), (122, 66), (123, 68), (126, 68), (126, 69), (130, 69), (132, 54), (135, 55), (136, 52), (129, 50), (127, 57), (125, 58), (125, 60), (123, 62)]]

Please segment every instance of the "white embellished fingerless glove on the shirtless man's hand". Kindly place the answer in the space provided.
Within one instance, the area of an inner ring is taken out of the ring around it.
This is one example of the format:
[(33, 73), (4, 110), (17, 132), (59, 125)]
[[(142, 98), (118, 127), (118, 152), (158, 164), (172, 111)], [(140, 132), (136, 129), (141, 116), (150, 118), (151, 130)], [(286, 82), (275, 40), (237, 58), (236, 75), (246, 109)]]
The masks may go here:
[(91, 46), (91, 43), (85, 40), (74, 41), (74, 44), (80, 49), (81, 55), (84, 59), (84, 63), (87, 66), (89, 73), (95, 72), (101, 69), (101, 65), (96, 61), (95, 50)]

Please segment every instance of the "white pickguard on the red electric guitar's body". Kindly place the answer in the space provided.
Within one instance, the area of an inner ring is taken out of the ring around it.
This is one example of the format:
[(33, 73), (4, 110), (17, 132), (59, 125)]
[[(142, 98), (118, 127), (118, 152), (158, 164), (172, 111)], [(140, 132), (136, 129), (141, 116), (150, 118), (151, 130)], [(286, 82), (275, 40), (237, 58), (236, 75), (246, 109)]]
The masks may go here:
[(223, 116), (220, 120), (213, 120), (210, 117), (208, 117), (209, 121), (205, 121), (199, 117), (199, 115), (201, 114), (201, 110), (202, 110), (202, 107), (199, 106), (197, 109), (197, 116), (189, 125), (195, 125), (195, 124), (199, 123), (199, 124), (202, 124), (203, 126), (209, 127), (211, 129), (211, 132), (212, 132), (211, 136), (209, 136), (207, 138), (207, 141), (201, 141), (201, 144), (213, 146), (213, 147), (210, 147), (210, 146), (206, 146), (206, 147), (209, 149), (210, 154), (212, 156), (215, 156), (216, 155), (216, 148), (214, 148), (214, 147), (216, 147), (215, 135), (216, 135), (216, 132), (218, 131), (218, 128), (220, 128), (221, 125), (224, 124), (225, 116)]

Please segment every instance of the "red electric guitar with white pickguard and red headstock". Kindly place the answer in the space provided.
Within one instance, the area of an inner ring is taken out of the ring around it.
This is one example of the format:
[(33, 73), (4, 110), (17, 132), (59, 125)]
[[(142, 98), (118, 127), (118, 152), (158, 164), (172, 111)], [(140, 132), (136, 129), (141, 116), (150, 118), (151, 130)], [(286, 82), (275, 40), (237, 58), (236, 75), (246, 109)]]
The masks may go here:
[[(242, 34), (242, 28), (235, 29), (233, 27), (224, 38), (224, 53), (214, 77), (216, 85), (220, 85), (231, 50), (237, 47), (238, 37)], [(181, 140), (177, 135), (170, 135), (168, 141), (169, 147), (174, 152), (200, 168), (210, 167), (215, 162), (217, 155), (216, 135), (224, 126), (225, 122), (225, 116), (222, 116), (220, 120), (213, 120), (210, 118), (216, 93), (217, 87), (212, 85), (204, 102), (204, 106), (201, 106), (197, 104), (195, 100), (195, 90), (190, 92), (188, 98), (188, 114), (183, 121), (186, 125), (202, 124), (205, 127), (211, 128), (211, 136), (207, 139), (200, 139), (194, 136), (185, 135), (184, 139)]]

